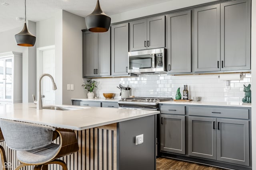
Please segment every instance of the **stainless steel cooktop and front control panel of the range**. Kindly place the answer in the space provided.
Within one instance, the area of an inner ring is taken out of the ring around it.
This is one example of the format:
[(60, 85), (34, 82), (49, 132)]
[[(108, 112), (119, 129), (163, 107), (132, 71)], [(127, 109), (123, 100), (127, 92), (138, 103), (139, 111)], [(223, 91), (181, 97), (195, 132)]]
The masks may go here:
[(121, 109), (159, 110), (158, 103), (166, 100), (172, 100), (172, 98), (122, 98), (118, 104)]

